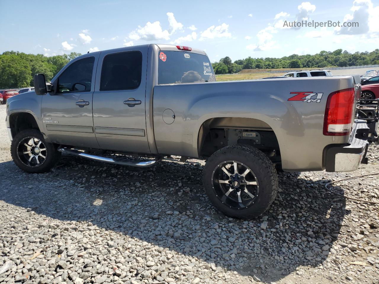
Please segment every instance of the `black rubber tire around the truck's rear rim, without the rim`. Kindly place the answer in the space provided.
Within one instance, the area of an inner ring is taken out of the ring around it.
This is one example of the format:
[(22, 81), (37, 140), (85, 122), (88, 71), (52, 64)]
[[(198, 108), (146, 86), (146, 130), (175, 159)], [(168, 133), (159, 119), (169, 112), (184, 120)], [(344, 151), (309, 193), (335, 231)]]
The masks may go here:
[[(235, 160), (245, 164), (255, 174), (259, 183), (256, 202), (248, 208), (230, 208), (217, 196), (213, 189), (213, 172), (223, 161)], [(273, 203), (278, 191), (278, 176), (270, 159), (257, 148), (249, 145), (230, 145), (216, 151), (205, 164), (203, 172), (205, 193), (211, 203), (222, 213), (235, 218), (251, 219), (265, 212)]]

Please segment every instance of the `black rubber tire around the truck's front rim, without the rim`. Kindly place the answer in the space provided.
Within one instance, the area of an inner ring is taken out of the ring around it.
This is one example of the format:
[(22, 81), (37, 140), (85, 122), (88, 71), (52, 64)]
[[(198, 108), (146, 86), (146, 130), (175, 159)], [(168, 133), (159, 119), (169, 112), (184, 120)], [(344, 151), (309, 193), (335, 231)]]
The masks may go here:
[[(26, 137), (36, 137), (45, 145), (47, 154), (44, 162), (41, 165), (31, 167), (26, 165), (20, 158), (18, 154), (18, 147), (20, 142)], [(14, 163), (24, 172), (28, 173), (44, 173), (48, 172), (52, 167), (56, 164), (56, 162), (61, 157), (61, 152), (57, 150), (57, 146), (55, 144), (46, 142), (42, 133), (36, 129), (28, 129), (23, 130), (20, 133), (16, 134), (12, 140), (11, 144), (11, 156)]]

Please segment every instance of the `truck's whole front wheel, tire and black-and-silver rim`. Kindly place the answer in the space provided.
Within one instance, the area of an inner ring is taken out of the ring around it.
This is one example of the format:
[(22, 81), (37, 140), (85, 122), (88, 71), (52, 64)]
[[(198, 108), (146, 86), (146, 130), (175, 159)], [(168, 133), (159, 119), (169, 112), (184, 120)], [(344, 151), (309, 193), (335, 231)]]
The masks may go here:
[(14, 163), (28, 173), (49, 171), (61, 156), (56, 146), (45, 141), (41, 132), (35, 129), (18, 133), (11, 144)]

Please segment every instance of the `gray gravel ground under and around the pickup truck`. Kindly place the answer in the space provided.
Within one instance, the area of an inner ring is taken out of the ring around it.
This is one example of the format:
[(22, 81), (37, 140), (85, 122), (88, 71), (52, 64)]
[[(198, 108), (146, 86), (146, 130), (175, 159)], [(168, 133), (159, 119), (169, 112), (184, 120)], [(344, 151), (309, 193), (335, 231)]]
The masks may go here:
[[(136, 169), (63, 156), (45, 174), (11, 161), (0, 106), (0, 283), (379, 283), (379, 147), (352, 173), (279, 175), (260, 218), (217, 212), (204, 162)], [(7, 268), (8, 265), (11, 267)], [(2, 272), (6, 270), (5, 272)]]

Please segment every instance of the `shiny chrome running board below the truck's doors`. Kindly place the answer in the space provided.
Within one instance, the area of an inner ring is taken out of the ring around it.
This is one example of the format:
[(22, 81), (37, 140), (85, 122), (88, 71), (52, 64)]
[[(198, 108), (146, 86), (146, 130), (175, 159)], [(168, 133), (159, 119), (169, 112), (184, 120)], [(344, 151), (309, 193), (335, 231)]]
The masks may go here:
[(106, 158), (102, 156), (87, 154), (78, 150), (73, 150), (73, 149), (69, 149), (69, 148), (61, 147), (61, 146), (58, 147), (58, 151), (80, 156), (80, 157), (91, 159), (91, 160), (100, 161), (100, 162), (106, 162), (106, 163), (116, 164), (116, 165), (126, 165), (126, 166), (139, 167), (139, 168), (151, 167), (152, 165), (156, 164), (163, 158), (163, 156), (158, 156), (157, 158), (153, 160), (149, 160), (149, 161), (117, 161), (112, 158)]

